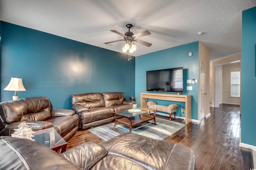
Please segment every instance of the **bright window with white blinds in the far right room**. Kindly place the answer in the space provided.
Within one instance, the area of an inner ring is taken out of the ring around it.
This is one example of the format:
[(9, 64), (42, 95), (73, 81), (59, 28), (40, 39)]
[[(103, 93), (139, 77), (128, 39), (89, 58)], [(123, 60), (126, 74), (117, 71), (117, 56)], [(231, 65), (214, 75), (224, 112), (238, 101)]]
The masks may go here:
[(230, 71), (230, 97), (240, 97), (240, 70)]

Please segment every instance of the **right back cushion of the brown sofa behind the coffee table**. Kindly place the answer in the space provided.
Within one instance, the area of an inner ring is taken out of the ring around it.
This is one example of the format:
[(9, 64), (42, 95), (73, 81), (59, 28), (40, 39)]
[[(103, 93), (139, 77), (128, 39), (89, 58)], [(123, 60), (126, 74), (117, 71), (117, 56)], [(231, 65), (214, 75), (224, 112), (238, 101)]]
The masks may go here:
[(122, 105), (125, 100), (125, 95), (122, 92), (102, 93), (102, 96), (104, 97), (106, 107)]

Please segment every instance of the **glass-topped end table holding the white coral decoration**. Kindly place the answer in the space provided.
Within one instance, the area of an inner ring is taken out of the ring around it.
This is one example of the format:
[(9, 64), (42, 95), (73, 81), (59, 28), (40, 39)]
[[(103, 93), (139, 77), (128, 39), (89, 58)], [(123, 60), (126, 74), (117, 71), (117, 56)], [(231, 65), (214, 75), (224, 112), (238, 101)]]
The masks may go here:
[(34, 135), (32, 139), (34, 139), (36, 142), (44, 144), (52, 150), (60, 150), (60, 154), (66, 151), (68, 143), (53, 127), (35, 131), (35, 133), (32, 135)]

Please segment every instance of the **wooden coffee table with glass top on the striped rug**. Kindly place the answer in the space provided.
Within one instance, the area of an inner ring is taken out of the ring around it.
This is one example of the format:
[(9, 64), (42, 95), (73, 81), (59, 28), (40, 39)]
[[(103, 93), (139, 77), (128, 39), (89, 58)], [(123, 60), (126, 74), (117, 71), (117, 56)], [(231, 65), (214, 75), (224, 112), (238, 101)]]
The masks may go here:
[[(131, 113), (129, 110), (124, 110), (124, 111), (117, 111), (117, 112), (113, 112), (113, 115), (115, 117), (115, 125), (113, 127), (113, 130), (115, 130), (116, 128), (116, 123), (120, 123), (122, 125), (125, 125), (127, 127), (130, 127), (130, 132), (132, 132), (132, 130), (144, 127), (146, 125), (149, 125), (151, 123), (156, 124), (156, 109), (149, 109), (146, 107), (139, 107), (138, 109), (140, 109), (140, 112), (136, 112), (136, 113)], [(154, 113), (154, 115), (150, 115), (151, 113)], [(121, 118), (118, 118), (121, 117)], [(142, 123), (148, 122), (146, 124), (143, 124), (142, 126), (136, 127), (136, 128), (132, 128), (134, 126), (140, 125)]]

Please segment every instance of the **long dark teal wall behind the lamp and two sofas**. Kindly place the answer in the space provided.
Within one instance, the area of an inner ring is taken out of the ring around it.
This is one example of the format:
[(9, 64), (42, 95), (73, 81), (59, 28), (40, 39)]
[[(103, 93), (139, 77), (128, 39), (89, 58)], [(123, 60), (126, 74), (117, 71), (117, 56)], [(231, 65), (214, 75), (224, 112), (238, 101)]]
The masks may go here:
[(19, 98), (47, 96), (54, 109), (70, 109), (77, 93), (135, 94), (135, 60), (125, 54), (2, 21), (0, 36), (1, 101), (12, 100), (3, 89), (16, 76)]

